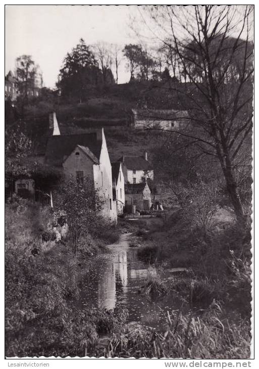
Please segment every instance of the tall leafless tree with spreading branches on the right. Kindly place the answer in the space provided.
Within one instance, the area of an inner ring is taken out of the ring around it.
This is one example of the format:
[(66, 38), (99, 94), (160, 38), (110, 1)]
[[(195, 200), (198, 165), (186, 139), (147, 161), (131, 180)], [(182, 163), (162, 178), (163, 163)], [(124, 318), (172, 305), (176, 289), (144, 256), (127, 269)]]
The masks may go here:
[(237, 220), (243, 223), (237, 169), (249, 166), (251, 160), (248, 155), (247, 161), (247, 142), (253, 115), (249, 39), (253, 7), (171, 6), (147, 11), (158, 32), (167, 31), (164, 39), (161, 33), (157, 36), (168, 48), (170, 32), (174, 52), (191, 82), (188, 91), (176, 89), (188, 107), (192, 131), (173, 132), (189, 137), (204, 154), (219, 160)]

